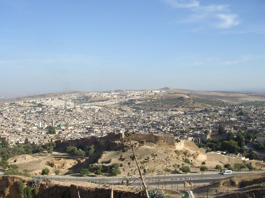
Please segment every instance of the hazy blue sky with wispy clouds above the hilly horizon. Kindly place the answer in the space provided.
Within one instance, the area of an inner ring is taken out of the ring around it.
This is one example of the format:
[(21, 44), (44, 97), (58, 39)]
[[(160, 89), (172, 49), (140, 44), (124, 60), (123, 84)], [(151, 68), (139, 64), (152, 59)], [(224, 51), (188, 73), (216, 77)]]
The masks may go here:
[(264, 0), (0, 0), (0, 95), (264, 89)]

